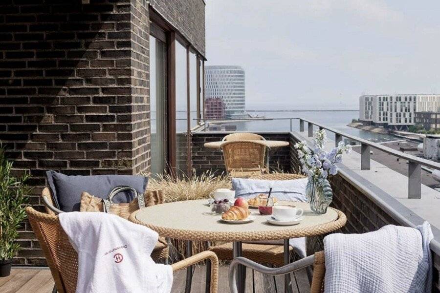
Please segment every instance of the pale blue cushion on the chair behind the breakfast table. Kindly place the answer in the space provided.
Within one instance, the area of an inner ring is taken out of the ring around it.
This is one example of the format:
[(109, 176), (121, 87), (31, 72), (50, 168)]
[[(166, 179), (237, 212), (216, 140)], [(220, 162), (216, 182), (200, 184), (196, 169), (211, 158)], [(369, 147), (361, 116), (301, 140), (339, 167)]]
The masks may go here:
[(235, 190), (235, 197), (253, 198), (260, 193), (267, 194), (272, 188), (271, 196), (279, 200), (307, 202), (307, 182), (307, 178), (294, 180), (232, 178), (232, 189)]

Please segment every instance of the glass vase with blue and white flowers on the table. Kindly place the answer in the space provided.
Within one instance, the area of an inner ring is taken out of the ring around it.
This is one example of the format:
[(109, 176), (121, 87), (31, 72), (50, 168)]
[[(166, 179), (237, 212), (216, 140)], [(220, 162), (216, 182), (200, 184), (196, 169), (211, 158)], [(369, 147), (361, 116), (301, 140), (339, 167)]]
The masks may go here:
[(308, 147), (306, 141), (294, 145), (300, 163), (303, 165), (302, 170), (308, 175), (306, 196), (310, 209), (318, 214), (327, 212), (333, 199), (333, 191), (328, 177), (336, 175), (338, 172), (336, 164), (342, 161), (342, 154), (352, 150), (352, 146), (345, 146), (344, 142), (340, 141), (338, 146), (333, 147), (330, 151), (325, 151), (326, 142), (327, 134), (322, 129), (313, 134), (312, 149)]

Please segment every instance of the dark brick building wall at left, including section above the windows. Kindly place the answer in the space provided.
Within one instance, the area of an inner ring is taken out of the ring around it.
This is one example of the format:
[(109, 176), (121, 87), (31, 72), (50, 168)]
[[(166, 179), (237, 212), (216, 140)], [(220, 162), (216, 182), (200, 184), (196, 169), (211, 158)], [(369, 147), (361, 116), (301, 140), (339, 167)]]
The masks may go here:
[[(204, 48), (191, 5), (161, 9)], [(170, 12), (167, 11), (170, 9)], [(186, 14), (184, 14), (186, 13)], [(178, 16), (177, 16), (178, 15)], [(198, 23), (202, 21), (203, 23)], [(190, 39), (191, 40), (191, 39)], [(0, 140), (38, 195), (45, 171), (137, 174), (150, 169), (149, 7), (146, 0), (0, 2)], [(28, 223), (16, 264), (44, 264)]]

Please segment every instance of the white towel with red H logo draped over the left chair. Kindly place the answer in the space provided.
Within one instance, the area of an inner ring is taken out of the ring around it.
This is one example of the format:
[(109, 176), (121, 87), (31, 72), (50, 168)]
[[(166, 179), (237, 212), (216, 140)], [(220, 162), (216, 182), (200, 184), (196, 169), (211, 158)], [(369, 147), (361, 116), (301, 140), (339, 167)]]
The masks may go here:
[(158, 234), (103, 212), (59, 215), (78, 252), (77, 293), (169, 293), (171, 266), (155, 264), (151, 252)]

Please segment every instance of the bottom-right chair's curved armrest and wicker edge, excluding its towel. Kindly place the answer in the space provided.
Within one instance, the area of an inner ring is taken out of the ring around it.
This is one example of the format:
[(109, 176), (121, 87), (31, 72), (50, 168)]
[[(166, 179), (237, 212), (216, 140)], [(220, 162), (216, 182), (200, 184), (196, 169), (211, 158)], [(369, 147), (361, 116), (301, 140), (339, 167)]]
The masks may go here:
[(231, 262), (231, 265), (229, 266), (229, 289), (231, 293), (238, 293), (236, 275), (237, 266), (239, 264), (257, 272), (273, 275), (274, 277), (276, 275), (284, 275), (287, 273), (299, 271), (301, 269), (310, 269), (310, 267), (313, 265), (310, 293), (324, 292), (324, 276), (326, 272), (324, 251), (316, 252), (314, 255), (310, 255), (306, 258), (297, 260), (281, 268), (268, 268), (245, 257), (237, 257)]

